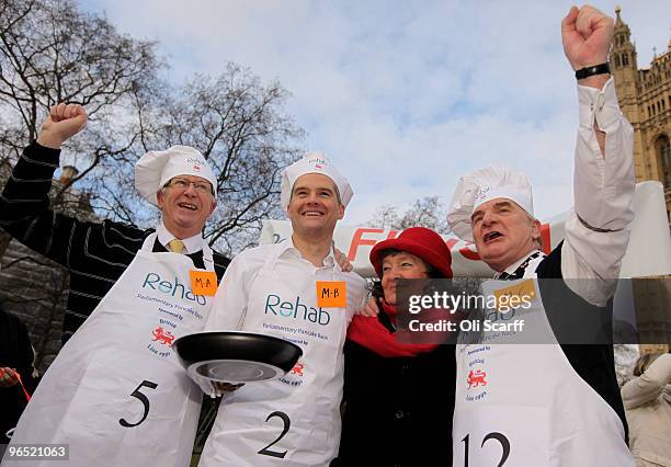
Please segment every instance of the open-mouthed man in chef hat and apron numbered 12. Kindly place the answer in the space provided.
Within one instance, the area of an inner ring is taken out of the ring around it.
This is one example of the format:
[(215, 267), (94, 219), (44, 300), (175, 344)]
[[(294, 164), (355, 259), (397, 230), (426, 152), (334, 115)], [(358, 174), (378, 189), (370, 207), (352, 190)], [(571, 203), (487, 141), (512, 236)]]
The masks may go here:
[[(607, 301), (634, 217), (633, 132), (605, 64), (613, 20), (592, 7), (573, 7), (561, 30), (565, 54), (577, 70), (580, 124), (576, 205), (565, 240), (551, 251), (543, 244), (528, 181), (504, 168), (463, 176), (447, 214), (452, 230), (475, 242), (496, 278), (546, 280), (515, 285), (538, 287), (524, 316), (526, 323), (541, 324), (535, 338), (544, 344), (519, 343), (515, 332), (503, 338), (509, 344), (497, 344), (502, 334), (489, 331), (479, 341), (486, 345), (457, 345), (455, 465), (466, 458), (474, 465), (634, 465), (612, 345), (566, 342), (594, 318), (605, 318), (612, 339)], [(474, 372), (482, 385), (471, 384)]]

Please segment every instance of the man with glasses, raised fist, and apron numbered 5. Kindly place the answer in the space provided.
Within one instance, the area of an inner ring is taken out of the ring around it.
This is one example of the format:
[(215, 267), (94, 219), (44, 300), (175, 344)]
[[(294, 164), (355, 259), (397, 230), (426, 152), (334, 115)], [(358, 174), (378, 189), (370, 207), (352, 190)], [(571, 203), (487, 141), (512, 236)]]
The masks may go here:
[[(138, 191), (161, 209), (156, 229), (53, 213), (60, 146), (86, 123), (82, 106), (54, 106), (1, 200), (2, 227), (70, 272), (67, 342), (12, 444), (66, 444), (73, 466), (189, 465), (202, 392), (184, 377), (172, 342), (204, 328), (228, 263), (202, 237), (216, 176), (198, 151), (174, 146), (136, 166)], [(194, 277), (209, 287), (196, 292)]]

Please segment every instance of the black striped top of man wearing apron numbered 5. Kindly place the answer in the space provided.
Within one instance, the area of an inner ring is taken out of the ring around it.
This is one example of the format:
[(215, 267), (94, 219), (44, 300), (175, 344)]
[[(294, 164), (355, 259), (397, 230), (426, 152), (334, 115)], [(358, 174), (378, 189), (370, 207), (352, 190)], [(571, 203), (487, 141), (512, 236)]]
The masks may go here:
[[(62, 342), (83, 323), (155, 230), (103, 220), (81, 221), (49, 208), (49, 190), (60, 150), (33, 143), (14, 167), (0, 197), (0, 227), (12, 237), (65, 266), (70, 291), (64, 319)], [(167, 251), (158, 241), (153, 251)], [(203, 266), (202, 251), (190, 254)], [(220, 280), (230, 262), (214, 253)]]

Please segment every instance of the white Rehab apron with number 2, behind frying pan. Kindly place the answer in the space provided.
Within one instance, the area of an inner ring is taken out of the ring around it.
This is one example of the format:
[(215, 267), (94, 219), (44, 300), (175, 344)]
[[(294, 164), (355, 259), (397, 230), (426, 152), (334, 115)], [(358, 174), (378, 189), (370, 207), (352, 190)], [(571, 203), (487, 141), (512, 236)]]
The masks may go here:
[[(320, 466), (338, 454), (342, 346), (352, 304), (362, 300), (363, 291), (348, 281), (346, 310), (321, 308), (320, 312), (316, 281), (338, 280), (334, 267), (321, 267), (315, 274), (275, 267), (276, 258), (271, 255), (250, 287), (241, 330), (292, 341), (303, 349), (303, 357), (281, 379), (250, 383), (225, 396), (201, 467)], [(275, 305), (276, 315), (265, 312), (266, 304), (280, 301), (284, 308)]]

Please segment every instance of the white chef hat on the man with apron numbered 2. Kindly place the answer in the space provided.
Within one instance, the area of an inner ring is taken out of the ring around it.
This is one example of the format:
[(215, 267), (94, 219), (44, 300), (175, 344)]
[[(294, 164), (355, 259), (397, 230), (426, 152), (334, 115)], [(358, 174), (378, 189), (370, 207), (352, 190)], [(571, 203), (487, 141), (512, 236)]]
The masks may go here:
[(294, 183), (300, 175), (306, 173), (321, 173), (333, 181), (338, 187), (340, 194), (340, 202), (343, 206), (348, 206), (354, 192), (348, 179), (333, 167), (331, 161), (322, 152), (308, 152), (303, 159), (292, 163), (289, 167), (282, 171), (282, 192), (280, 194), (280, 202), (282, 207), (286, 212), (288, 208), (289, 200), (292, 198), (292, 191), (294, 190)]

